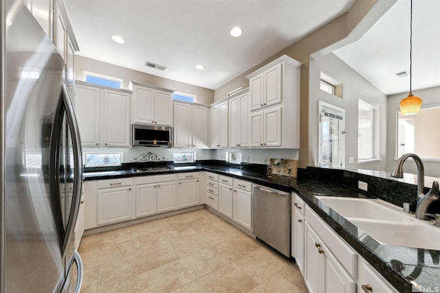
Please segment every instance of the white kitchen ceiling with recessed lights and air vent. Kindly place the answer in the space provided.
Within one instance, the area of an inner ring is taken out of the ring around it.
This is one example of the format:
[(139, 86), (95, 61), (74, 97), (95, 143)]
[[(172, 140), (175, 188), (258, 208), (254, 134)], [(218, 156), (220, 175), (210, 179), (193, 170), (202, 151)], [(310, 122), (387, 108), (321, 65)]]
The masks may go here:
[[(217, 89), (343, 14), (354, 1), (67, 0), (66, 3), (80, 47), (78, 55)], [(243, 28), (239, 38), (229, 34), (236, 25)], [(113, 43), (112, 34), (123, 36), (126, 43)], [(341, 54), (347, 55), (345, 51), (341, 50)], [(146, 60), (167, 69), (146, 67)], [(206, 69), (197, 71), (198, 64)]]

